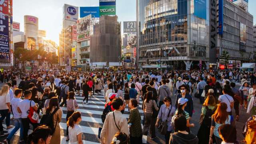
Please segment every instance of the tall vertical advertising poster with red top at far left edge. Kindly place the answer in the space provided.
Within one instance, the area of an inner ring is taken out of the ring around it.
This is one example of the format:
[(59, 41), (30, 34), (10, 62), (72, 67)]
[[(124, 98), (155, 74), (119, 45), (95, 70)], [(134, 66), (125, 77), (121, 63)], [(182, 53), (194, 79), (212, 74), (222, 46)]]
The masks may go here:
[(10, 62), (9, 0), (0, 1), (0, 62)]

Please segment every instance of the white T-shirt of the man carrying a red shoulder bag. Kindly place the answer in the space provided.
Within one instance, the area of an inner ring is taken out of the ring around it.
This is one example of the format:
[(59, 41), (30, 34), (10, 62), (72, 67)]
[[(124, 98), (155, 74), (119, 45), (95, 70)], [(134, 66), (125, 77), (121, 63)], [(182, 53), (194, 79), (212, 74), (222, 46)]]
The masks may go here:
[[(34, 107), (35, 105), (36, 105), (35, 102), (32, 100), (31, 106)], [(27, 118), (28, 117), (27, 112), (30, 109), (30, 100), (24, 99), (24, 100), (20, 101), (20, 103), (18, 104), (18, 107), (21, 110), (21, 118)]]

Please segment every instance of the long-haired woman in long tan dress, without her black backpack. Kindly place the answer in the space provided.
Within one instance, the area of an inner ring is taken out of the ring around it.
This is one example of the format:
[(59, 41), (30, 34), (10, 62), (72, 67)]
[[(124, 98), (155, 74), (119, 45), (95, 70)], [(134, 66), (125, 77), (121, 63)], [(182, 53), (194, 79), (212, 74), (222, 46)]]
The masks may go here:
[(58, 98), (53, 97), (49, 102), (49, 106), (46, 109), (46, 114), (51, 117), (50, 124), (46, 124), (52, 130), (52, 140), (50, 144), (60, 144), (60, 121), (62, 118), (62, 109), (58, 105)]

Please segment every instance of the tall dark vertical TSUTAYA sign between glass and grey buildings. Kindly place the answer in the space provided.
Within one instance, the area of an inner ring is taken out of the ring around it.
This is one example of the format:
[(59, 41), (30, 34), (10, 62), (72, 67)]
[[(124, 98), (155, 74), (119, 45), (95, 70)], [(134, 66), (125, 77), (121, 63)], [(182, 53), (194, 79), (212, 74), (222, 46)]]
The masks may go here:
[(216, 63), (216, 45), (217, 45), (217, 22), (216, 5), (217, 0), (210, 0), (210, 52), (209, 62)]

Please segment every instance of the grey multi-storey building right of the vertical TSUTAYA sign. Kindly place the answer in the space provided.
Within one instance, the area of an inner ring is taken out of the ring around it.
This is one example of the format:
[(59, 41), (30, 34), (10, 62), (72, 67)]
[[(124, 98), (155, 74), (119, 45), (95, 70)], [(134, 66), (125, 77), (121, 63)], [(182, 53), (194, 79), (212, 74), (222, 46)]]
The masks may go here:
[(242, 62), (249, 62), (252, 59), (252, 52), (256, 50), (254, 48), (253, 16), (247, 11), (248, 8), (245, 5), (241, 7), (239, 2), (238, 4), (230, 2), (230, 0), (219, 0), (218, 2), (219, 5), (223, 2), (223, 15), (219, 8), (217, 18), (220, 20), (219, 18), (222, 16), (223, 30), (219, 28), (218, 32), (217, 66), (221, 69), (225, 67), (222, 52), (227, 51), (230, 55), (227, 67), (240, 68)]

